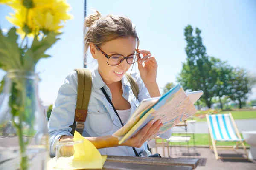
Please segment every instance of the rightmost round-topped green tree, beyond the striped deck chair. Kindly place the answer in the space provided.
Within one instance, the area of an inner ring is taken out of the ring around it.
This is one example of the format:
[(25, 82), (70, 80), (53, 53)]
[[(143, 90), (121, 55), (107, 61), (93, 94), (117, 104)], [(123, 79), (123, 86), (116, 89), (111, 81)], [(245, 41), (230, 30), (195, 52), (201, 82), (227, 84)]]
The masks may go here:
[(239, 108), (242, 108), (248, 99), (251, 87), (249, 85), (249, 77), (247, 72), (242, 68), (234, 68), (231, 78), (231, 94), (230, 98), (239, 101)]

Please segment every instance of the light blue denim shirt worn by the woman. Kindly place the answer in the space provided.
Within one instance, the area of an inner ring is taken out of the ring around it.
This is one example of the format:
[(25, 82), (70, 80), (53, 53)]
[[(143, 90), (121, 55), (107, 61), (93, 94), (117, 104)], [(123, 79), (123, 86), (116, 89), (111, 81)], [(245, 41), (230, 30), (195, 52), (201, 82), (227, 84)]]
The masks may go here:
[[(82, 136), (84, 137), (97, 137), (112, 135), (114, 132), (122, 127), (113, 107), (104, 96), (101, 88), (103, 87), (107, 92), (108, 96), (112, 100), (112, 94), (108, 86), (103, 82), (97, 69), (92, 70), (92, 89), (91, 96), (88, 105), (88, 112), (86, 122), (84, 123), (84, 131)], [(132, 77), (139, 86), (139, 94), (137, 98), (134, 96), (131, 85), (128, 79), (122, 77), (122, 96), (130, 103), (131, 113), (134, 113), (140, 101), (146, 98), (150, 98), (148, 90), (138, 74), (132, 74)], [(49, 129), (49, 144), (50, 154), (55, 156), (55, 144), (58, 142), (61, 136), (67, 135), (72, 136), (70, 125), (74, 122), (76, 99), (77, 99), (77, 73), (72, 71), (67, 75), (64, 80), (64, 84), (61, 85), (57, 99), (53, 105), (52, 113), (48, 122)], [(171, 130), (166, 131), (161, 138), (168, 139), (171, 136)], [(135, 148), (137, 153), (147, 149), (147, 143), (145, 142), (142, 147)], [(119, 147), (108, 147), (99, 149), (102, 155), (116, 155), (116, 156), (135, 156), (132, 147), (119, 146)]]

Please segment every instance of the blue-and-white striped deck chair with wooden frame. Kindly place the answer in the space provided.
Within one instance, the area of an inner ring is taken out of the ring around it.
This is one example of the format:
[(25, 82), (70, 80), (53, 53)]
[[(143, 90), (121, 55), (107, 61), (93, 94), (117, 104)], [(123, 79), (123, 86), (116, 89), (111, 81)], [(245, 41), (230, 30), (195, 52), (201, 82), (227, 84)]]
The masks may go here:
[[(248, 153), (244, 145), (244, 139), (241, 138), (239, 130), (237, 129), (236, 123), (231, 113), (228, 114), (206, 114), (206, 119), (209, 129), (209, 147), (215, 153), (215, 158), (218, 159), (248, 159)], [(212, 141), (212, 146), (210, 144)], [(235, 141), (235, 146), (216, 146), (217, 141)], [(217, 149), (231, 149), (235, 150), (239, 145), (242, 145), (246, 158), (241, 157), (220, 157), (218, 156)]]

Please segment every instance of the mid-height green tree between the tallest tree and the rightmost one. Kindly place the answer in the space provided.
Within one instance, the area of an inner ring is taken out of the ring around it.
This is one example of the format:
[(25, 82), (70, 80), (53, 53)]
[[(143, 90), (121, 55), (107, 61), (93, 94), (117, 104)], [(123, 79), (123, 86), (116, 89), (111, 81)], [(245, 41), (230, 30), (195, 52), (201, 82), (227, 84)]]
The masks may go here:
[(217, 71), (217, 82), (215, 84), (215, 96), (218, 97), (218, 102), (220, 103), (221, 109), (223, 109), (222, 96), (229, 96), (231, 91), (230, 79), (232, 76), (233, 67), (231, 67), (227, 62), (222, 62), (221, 59), (211, 57), (210, 61)]

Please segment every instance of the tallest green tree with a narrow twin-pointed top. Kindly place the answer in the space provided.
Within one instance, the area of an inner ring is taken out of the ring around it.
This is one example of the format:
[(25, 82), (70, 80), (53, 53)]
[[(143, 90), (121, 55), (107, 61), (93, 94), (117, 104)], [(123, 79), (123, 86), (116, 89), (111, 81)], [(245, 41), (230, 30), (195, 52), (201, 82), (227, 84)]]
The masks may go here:
[(204, 102), (208, 108), (211, 108), (211, 100), (215, 95), (215, 85), (217, 82), (217, 70), (209, 60), (206, 53), (206, 48), (203, 45), (201, 38), (201, 30), (195, 29), (195, 36), (192, 34), (193, 28), (188, 25), (185, 28), (185, 40), (187, 42), (186, 62), (183, 63), (183, 68), (177, 77), (177, 81), (185, 90), (203, 90), (204, 95), (201, 101)]

